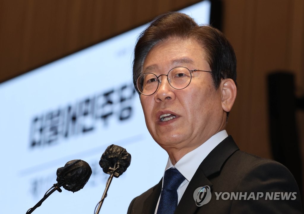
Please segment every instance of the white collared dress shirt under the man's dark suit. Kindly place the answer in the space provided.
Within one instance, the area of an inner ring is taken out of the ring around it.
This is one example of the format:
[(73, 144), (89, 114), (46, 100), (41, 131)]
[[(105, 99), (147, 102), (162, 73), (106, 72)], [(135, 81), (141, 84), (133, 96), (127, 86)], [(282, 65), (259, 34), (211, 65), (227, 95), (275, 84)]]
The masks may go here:
[[(186, 178), (185, 181), (183, 181), (177, 189), (177, 195), (178, 195), (177, 203), (179, 203), (179, 201), (181, 200), (181, 197), (183, 196), (196, 170), (199, 168), (199, 165), (207, 157), (207, 155), (226, 137), (228, 137), (226, 130), (216, 133), (211, 138), (209, 138), (206, 142), (204, 142), (201, 146), (185, 154), (174, 166), (171, 163), (170, 158), (168, 158), (165, 171), (171, 167), (174, 167)], [(158, 198), (158, 202), (154, 212), (155, 214), (157, 212), (160, 198), (161, 196), (159, 196)]]

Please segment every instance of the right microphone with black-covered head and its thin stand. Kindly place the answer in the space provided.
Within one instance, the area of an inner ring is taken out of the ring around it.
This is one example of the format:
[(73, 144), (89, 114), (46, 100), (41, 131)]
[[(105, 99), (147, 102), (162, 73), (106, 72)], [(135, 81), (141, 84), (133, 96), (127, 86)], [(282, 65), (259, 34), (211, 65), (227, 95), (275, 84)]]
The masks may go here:
[(97, 210), (95, 207), (95, 214), (99, 213), (101, 205), (105, 200), (105, 197), (107, 197), (107, 192), (110, 187), (113, 176), (119, 177), (120, 175), (122, 175), (130, 166), (130, 163), (131, 155), (123, 147), (112, 144), (105, 149), (105, 152), (100, 158), (99, 165), (104, 173), (110, 174), (110, 177), (108, 178), (108, 181), (106, 183), (105, 191), (102, 195), (102, 198), (96, 205), (96, 207), (98, 206)]

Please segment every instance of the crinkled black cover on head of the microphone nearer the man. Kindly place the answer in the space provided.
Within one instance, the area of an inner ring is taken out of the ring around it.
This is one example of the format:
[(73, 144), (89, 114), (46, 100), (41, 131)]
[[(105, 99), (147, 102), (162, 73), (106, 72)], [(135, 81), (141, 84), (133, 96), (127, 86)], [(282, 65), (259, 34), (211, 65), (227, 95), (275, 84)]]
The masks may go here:
[(122, 175), (131, 163), (131, 155), (121, 146), (114, 144), (108, 146), (105, 152), (102, 154), (99, 165), (104, 173), (111, 174), (114, 166), (118, 166), (114, 177)]

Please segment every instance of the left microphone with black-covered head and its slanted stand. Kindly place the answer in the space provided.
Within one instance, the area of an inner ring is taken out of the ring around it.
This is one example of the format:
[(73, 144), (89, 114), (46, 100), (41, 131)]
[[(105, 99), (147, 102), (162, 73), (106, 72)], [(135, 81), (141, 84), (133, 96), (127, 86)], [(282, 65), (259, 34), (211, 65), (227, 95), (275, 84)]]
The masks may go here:
[[(28, 209), (26, 214), (32, 213), (37, 207), (40, 207), (47, 197), (54, 191), (62, 192), (60, 187), (72, 192), (81, 190), (88, 182), (92, 169), (89, 164), (83, 160), (71, 160), (64, 167), (57, 169), (57, 184), (54, 184), (43, 196), (43, 198), (32, 208)], [(52, 189), (53, 188), (53, 189)]]

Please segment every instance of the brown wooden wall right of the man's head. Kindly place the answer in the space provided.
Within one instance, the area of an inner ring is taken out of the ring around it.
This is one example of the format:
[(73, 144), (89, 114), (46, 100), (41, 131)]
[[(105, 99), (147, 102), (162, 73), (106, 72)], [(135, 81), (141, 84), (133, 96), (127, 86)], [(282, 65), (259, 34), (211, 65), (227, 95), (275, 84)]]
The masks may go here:
[[(239, 84), (228, 130), (243, 150), (271, 157), (266, 78), (276, 69), (302, 76), (299, 73), (303, 74), (304, 9), (302, 3), (287, 0), (224, 3), (223, 30), (237, 54)], [(296, 84), (302, 86), (303, 80), (297, 79)]]

